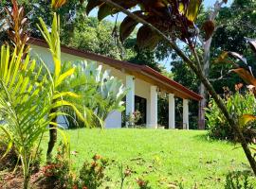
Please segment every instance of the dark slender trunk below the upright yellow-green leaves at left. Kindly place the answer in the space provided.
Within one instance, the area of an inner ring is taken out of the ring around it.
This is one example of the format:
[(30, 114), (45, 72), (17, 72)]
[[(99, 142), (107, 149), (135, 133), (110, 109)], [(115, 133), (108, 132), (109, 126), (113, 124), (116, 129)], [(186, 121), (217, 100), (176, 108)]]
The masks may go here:
[[(57, 112), (57, 109), (51, 109), (50, 113)], [(57, 116), (53, 117), (51, 122), (57, 124)], [(56, 125), (49, 125), (49, 142), (48, 142), (48, 148), (47, 148), (47, 160), (51, 160), (51, 152), (53, 147), (55, 146), (57, 142), (57, 126)]]

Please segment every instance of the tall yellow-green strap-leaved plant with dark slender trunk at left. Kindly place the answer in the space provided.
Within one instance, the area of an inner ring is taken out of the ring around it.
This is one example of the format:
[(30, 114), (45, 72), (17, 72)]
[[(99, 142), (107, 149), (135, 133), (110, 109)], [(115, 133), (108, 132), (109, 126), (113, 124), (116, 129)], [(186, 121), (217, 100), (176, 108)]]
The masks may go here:
[(55, 114), (55, 116), (52, 117), (52, 121), (49, 125), (49, 142), (48, 142), (48, 148), (47, 148), (47, 158), (48, 160), (50, 160), (52, 149), (57, 142), (57, 128), (58, 128), (57, 117), (58, 117), (59, 108), (64, 106), (70, 107), (76, 112), (76, 114), (79, 116), (81, 120), (84, 120), (84, 117), (73, 103), (64, 100), (65, 96), (69, 96), (73, 98), (79, 98), (80, 96), (70, 91), (60, 91), (61, 90), (60, 86), (64, 82), (64, 79), (66, 79), (66, 77), (70, 77), (75, 72), (75, 68), (71, 68), (65, 71), (64, 73), (62, 73), (60, 19), (55, 13), (52, 21), (51, 32), (49, 32), (42, 18), (40, 18), (39, 20), (40, 20), (41, 26), (38, 26), (38, 27), (42, 35), (44, 36), (46, 43), (49, 46), (49, 50), (51, 52), (52, 60), (53, 60), (53, 67), (54, 67), (54, 70), (51, 73), (51, 76), (54, 80), (54, 83), (53, 83), (54, 98), (52, 98), (52, 104), (55, 104), (55, 106), (52, 107), (50, 112)]

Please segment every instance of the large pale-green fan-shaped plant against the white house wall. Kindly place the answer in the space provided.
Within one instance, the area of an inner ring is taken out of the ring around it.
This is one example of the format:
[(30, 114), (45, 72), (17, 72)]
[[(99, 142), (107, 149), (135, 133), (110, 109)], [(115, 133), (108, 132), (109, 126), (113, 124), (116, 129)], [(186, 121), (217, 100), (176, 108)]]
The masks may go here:
[[(66, 63), (65, 69), (70, 69), (73, 65)], [(65, 90), (72, 90), (81, 97), (74, 100), (80, 112), (86, 112), (87, 127), (103, 127), (103, 121), (107, 115), (113, 111), (122, 112), (124, 110), (122, 99), (126, 94), (121, 80), (111, 77), (109, 70), (102, 70), (94, 62), (76, 62), (76, 71), (64, 82), (62, 86)], [(72, 100), (72, 99), (70, 99)], [(75, 112), (64, 109), (64, 112), (74, 116), (67, 116), (69, 129), (83, 126), (77, 119)], [(89, 121), (91, 119), (91, 121)]]

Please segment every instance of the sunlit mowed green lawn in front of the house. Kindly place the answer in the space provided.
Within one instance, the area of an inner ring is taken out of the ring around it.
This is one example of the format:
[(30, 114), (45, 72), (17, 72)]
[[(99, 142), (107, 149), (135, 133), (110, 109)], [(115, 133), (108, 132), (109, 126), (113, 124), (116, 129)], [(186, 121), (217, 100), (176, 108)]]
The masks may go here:
[[(137, 188), (137, 178), (149, 180), (152, 188), (170, 188), (177, 182), (182, 182), (185, 188), (224, 188), (229, 171), (249, 170), (242, 148), (209, 141), (206, 131), (75, 129), (66, 133), (70, 136), (71, 151), (78, 152), (72, 156), (77, 172), (94, 154), (111, 161), (102, 188), (119, 188), (120, 164), (133, 171), (124, 188)], [(43, 146), (46, 150), (46, 138)]]

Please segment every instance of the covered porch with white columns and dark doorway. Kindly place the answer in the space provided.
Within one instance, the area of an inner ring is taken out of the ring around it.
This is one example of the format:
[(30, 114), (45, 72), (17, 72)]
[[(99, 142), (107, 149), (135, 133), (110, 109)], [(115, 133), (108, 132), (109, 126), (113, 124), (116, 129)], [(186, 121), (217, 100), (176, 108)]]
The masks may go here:
[[(165, 95), (168, 99), (168, 112), (166, 112), (168, 113), (169, 117), (168, 129), (176, 129), (177, 127), (175, 121), (175, 98), (181, 98), (182, 126), (179, 129), (190, 129), (189, 100), (195, 99), (189, 97), (181, 97), (181, 95), (177, 95), (175, 93), (169, 93), (167, 90), (161, 88), (159, 85), (153, 85), (131, 75), (126, 76), (125, 85), (126, 88), (129, 89), (129, 92), (126, 95), (126, 109), (123, 113), (125, 113), (127, 116), (129, 116), (133, 112), (139, 111), (142, 115), (142, 119), (139, 124), (145, 124), (148, 129), (157, 129), (158, 98), (159, 95)], [(138, 103), (140, 103), (140, 106), (137, 105)]]

